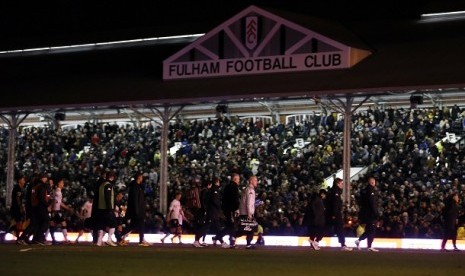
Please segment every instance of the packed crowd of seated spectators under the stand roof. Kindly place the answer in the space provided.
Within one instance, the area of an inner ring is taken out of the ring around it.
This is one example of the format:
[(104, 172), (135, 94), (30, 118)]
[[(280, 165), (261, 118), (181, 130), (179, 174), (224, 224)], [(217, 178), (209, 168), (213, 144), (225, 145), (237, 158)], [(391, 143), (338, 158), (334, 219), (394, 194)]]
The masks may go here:
[[(452, 191), (465, 199), (465, 154), (462, 141), (441, 142), (446, 133), (463, 131), (463, 110), (457, 106), (424, 109), (368, 108), (354, 113), (351, 165), (367, 168), (378, 180), (381, 223), (378, 236), (441, 238), (443, 199)], [(306, 235), (303, 212), (310, 193), (342, 168), (342, 116), (314, 113), (304, 121), (266, 123), (259, 117), (217, 116), (176, 120), (169, 125), (168, 201), (176, 191), (187, 193), (215, 176), (222, 184), (233, 172), (259, 179), (257, 196), (264, 204), (256, 216), (265, 235)], [(457, 125), (458, 123), (458, 125)], [(15, 175), (49, 172), (67, 183), (64, 201), (78, 209), (92, 196), (102, 170), (117, 172), (116, 190), (125, 190), (135, 172), (144, 173), (147, 231), (157, 232), (161, 128), (146, 124), (85, 123), (75, 128), (20, 128)], [(305, 142), (296, 147), (296, 139)], [(8, 224), (5, 181), (8, 129), (0, 129), (0, 221)], [(245, 182), (242, 183), (245, 187)], [(331, 184), (331, 183), (330, 183)], [(346, 231), (355, 235), (357, 199), (366, 184), (361, 176), (350, 183)], [(184, 199), (187, 197), (183, 197)], [(461, 201), (462, 207), (463, 201)], [(462, 216), (463, 219), (463, 216)], [(72, 223), (70, 224), (72, 231)], [(189, 231), (186, 226), (186, 231)]]

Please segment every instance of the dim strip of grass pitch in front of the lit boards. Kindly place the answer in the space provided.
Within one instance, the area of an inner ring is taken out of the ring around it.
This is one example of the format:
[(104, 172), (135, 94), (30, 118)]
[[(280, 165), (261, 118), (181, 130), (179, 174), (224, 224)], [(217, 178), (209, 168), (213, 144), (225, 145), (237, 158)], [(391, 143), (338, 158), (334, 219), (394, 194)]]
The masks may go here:
[(0, 245), (0, 275), (465, 275), (465, 252)]

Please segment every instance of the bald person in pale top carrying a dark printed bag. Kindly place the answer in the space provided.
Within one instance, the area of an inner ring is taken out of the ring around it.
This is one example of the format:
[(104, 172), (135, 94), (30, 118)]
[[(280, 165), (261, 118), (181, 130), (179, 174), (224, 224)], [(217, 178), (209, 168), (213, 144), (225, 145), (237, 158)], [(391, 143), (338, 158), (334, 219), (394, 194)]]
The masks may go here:
[[(245, 190), (242, 191), (241, 200), (239, 204), (239, 215), (242, 219), (247, 218), (248, 221), (253, 221), (254, 214), (255, 214), (255, 188), (257, 188), (258, 180), (255, 175), (249, 177), (249, 185)], [(253, 246), (251, 244), (253, 239), (253, 229), (250, 231), (244, 231), (242, 233), (238, 233), (238, 235), (245, 234), (246, 235), (246, 249), (252, 249)]]

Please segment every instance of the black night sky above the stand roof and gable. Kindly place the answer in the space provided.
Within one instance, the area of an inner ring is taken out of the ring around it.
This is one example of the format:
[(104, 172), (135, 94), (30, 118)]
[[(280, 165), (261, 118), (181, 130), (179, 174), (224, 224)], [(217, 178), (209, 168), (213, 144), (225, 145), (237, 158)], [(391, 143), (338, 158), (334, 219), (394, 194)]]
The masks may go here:
[[(105, 34), (130, 30), (221, 23), (251, 4), (300, 12), (312, 16), (353, 20), (415, 16), (430, 2), (453, 0), (373, 1), (2, 1), (0, 4), (0, 49), (51, 46), (69, 40), (99, 40)], [(6, 3), (5, 3), (6, 2)], [(342, 2), (342, 3), (341, 3)], [(72, 38), (72, 39), (71, 39)], [(29, 44), (28, 44), (29, 43)]]

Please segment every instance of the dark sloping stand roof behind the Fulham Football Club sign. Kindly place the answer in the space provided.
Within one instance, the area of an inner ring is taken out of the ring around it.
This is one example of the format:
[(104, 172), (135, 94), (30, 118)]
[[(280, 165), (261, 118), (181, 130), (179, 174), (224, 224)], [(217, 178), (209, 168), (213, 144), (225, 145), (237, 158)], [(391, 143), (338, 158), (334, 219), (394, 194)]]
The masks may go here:
[(0, 110), (366, 96), (465, 87), (465, 40), (457, 35), (465, 29), (463, 19), (349, 22), (343, 27), (301, 15), (279, 16), (295, 18), (299, 26), (313, 24), (317, 33), (329, 33), (344, 45), (362, 50), (369, 45), (373, 54), (364, 58), (358, 53), (361, 62), (350, 68), (172, 81), (162, 80), (162, 63), (187, 47), (185, 42), (1, 58)]

